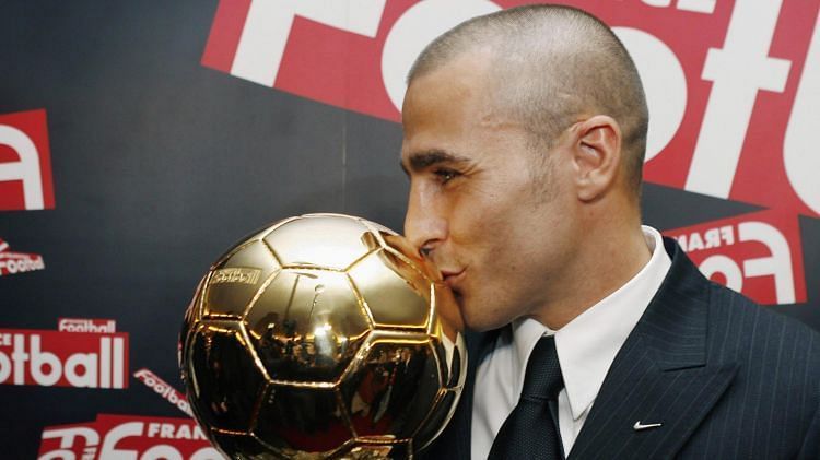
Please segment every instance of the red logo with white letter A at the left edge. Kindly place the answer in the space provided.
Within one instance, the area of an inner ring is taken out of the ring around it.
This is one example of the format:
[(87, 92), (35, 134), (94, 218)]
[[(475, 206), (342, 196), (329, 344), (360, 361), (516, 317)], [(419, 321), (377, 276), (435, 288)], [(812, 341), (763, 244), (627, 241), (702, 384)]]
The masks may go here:
[(0, 211), (54, 207), (46, 110), (0, 115)]

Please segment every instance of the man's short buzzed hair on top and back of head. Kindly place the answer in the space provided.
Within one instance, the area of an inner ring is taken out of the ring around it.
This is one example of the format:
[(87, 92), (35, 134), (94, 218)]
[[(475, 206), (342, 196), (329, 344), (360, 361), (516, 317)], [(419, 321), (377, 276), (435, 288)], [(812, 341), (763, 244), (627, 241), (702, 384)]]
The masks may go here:
[(456, 57), (490, 50), (499, 107), (551, 146), (582, 119), (608, 115), (621, 127), (626, 182), (640, 197), (648, 109), (632, 58), (597, 17), (555, 4), (534, 4), (473, 17), (433, 40), (408, 83)]

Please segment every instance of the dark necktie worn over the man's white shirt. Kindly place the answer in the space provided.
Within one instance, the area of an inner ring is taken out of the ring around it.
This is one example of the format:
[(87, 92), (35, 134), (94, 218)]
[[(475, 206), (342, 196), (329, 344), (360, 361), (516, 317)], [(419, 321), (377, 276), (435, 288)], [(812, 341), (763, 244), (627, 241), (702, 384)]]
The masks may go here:
[(541, 338), (529, 355), (518, 405), (501, 426), (488, 460), (562, 459), (558, 420), (549, 403), (558, 401), (563, 387), (555, 338)]

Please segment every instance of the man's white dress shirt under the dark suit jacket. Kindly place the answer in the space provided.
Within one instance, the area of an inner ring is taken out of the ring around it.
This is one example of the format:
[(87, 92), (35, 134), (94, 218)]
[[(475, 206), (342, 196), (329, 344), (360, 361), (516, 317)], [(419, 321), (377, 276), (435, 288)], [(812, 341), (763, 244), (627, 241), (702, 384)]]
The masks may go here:
[(618, 351), (637, 325), (669, 271), (671, 260), (660, 234), (643, 226), (652, 251), (649, 261), (623, 286), (552, 331), (535, 319), (513, 322), (512, 334), (502, 333), (490, 355), (479, 365), (472, 403), (472, 458), (485, 459), (493, 439), (516, 404), (524, 385), (529, 354), (543, 335), (555, 334), (555, 349), (564, 377), (558, 396), (558, 418), (565, 455), (584, 426)]

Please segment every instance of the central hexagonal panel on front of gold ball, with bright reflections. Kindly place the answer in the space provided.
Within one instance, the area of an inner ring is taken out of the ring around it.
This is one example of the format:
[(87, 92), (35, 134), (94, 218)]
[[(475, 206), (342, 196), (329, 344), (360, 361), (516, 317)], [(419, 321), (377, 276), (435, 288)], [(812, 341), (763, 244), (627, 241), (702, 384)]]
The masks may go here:
[(253, 346), (279, 381), (336, 381), (370, 330), (347, 274), (284, 269), (248, 311)]

